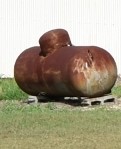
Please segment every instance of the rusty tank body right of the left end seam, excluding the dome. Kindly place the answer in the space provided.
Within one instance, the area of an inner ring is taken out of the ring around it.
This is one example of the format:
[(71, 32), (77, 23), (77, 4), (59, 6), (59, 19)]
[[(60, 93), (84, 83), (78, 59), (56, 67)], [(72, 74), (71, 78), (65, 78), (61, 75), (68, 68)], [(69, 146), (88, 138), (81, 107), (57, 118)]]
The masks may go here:
[(97, 97), (110, 92), (117, 78), (113, 57), (95, 46), (63, 47), (37, 64), (40, 91), (51, 96)]

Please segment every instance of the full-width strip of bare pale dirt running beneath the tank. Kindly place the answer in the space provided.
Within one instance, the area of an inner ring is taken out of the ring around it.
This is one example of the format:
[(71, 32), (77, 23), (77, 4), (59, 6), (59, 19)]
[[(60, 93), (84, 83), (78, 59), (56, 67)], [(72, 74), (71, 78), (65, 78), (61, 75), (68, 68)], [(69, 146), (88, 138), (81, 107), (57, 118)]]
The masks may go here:
[(81, 105), (80, 100), (78, 99), (66, 99), (66, 100), (61, 100), (61, 99), (53, 99), (53, 100), (44, 100), (41, 102), (31, 102), (28, 103), (28, 100), (26, 101), (5, 101), (2, 100), (0, 101), (0, 108), (10, 104), (15, 104), (17, 106), (32, 106), (32, 105), (41, 105), (43, 107), (48, 107), (50, 109), (68, 109), (68, 110), (81, 110), (81, 111), (88, 111), (88, 110), (95, 110), (98, 108), (105, 108), (106, 110), (121, 110), (121, 98), (115, 99), (115, 102), (106, 102), (103, 105), (95, 104), (92, 106), (89, 105)]

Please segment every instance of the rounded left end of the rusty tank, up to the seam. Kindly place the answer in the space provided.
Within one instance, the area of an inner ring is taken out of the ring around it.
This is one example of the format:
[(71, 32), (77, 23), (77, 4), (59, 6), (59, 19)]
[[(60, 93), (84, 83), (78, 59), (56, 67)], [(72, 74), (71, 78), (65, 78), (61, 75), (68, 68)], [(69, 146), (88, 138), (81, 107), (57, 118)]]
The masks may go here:
[(14, 66), (14, 77), (18, 86), (30, 95), (38, 95), (41, 84), (37, 74), (37, 63), (41, 49), (39, 46), (31, 47), (23, 51), (17, 58)]

